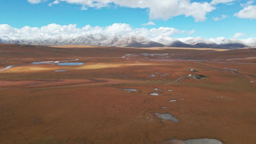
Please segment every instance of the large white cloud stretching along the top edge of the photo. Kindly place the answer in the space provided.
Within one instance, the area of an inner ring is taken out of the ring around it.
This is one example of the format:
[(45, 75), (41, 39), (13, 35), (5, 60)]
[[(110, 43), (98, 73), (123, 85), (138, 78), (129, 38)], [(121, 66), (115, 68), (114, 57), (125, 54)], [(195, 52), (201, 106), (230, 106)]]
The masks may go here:
[[(40, 3), (42, 0), (29, 0)], [(59, 0), (71, 4), (82, 5), (82, 10), (87, 7), (107, 7), (110, 3), (121, 7), (148, 9), (150, 19), (168, 20), (174, 16), (193, 16), (195, 22), (204, 21), (205, 15), (215, 9), (208, 2), (191, 2), (190, 0)], [(231, 0), (229, 0), (231, 1)]]

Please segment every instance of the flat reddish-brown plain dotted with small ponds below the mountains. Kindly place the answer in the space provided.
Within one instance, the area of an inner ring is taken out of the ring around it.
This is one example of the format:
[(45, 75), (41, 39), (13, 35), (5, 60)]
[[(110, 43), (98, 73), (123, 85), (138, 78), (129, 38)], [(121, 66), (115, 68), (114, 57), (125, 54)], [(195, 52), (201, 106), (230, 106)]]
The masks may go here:
[(0, 44), (0, 70), (0, 144), (256, 141), (256, 48)]

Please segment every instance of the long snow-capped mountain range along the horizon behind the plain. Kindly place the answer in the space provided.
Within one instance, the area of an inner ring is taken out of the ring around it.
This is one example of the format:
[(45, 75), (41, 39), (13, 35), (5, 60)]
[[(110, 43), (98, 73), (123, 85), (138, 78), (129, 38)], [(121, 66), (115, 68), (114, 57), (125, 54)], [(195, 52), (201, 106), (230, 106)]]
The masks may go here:
[(256, 38), (249, 39), (204, 39), (202, 37), (170, 38), (157, 37), (148, 39), (137, 35), (87, 34), (80, 36), (7, 37), (0, 36), (0, 43), (27, 45), (91, 45), (115, 47), (188, 47), (188, 48), (256, 48)]

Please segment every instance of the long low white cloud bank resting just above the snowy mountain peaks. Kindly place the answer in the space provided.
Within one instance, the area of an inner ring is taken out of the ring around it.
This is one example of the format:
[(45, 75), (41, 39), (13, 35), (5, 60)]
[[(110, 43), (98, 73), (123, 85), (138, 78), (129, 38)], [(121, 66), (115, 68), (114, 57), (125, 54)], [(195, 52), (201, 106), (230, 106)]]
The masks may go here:
[(106, 27), (91, 27), (86, 25), (82, 28), (77, 28), (76, 24), (69, 25), (58, 25), (49, 24), (43, 27), (29, 27), (25, 26), (22, 28), (13, 28), (7, 24), (0, 25), (0, 36), (8, 37), (36, 37), (39, 35), (48, 36), (78, 36), (84, 34), (135, 34), (139, 36), (144, 36), (148, 38), (155, 38), (158, 36), (168, 36), (171, 37), (173, 34), (184, 33), (184, 30), (178, 30), (171, 27), (159, 27), (159, 28), (135, 28), (133, 29), (129, 24), (115, 23)]

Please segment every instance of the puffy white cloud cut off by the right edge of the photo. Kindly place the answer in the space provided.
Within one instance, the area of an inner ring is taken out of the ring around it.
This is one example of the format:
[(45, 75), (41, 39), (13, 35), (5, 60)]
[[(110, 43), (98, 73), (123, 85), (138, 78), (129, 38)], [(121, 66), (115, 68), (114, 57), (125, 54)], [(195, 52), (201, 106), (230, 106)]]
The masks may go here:
[(240, 10), (238, 13), (235, 13), (234, 16), (237, 16), (238, 18), (256, 19), (256, 5), (244, 7), (244, 9)]

